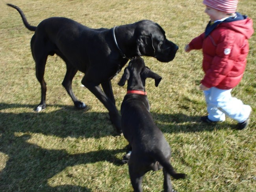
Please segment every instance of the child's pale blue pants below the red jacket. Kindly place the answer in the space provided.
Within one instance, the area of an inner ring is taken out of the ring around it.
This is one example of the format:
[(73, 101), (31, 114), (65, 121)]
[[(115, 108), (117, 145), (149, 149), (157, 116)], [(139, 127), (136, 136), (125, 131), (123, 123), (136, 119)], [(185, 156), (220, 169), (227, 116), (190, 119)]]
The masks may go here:
[(207, 103), (208, 118), (211, 121), (224, 121), (225, 114), (239, 123), (249, 118), (252, 108), (244, 105), (241, 100), (231, 96), (232, 89), (223, 90), (211, 87), (204, 90)]

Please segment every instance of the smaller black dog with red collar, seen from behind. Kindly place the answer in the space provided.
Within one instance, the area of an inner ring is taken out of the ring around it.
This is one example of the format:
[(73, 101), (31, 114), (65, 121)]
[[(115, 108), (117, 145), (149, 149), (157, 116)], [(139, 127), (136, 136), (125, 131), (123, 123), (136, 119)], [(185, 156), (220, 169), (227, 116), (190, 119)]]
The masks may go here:
[(170, 164), (171, 149), (163, 133), (154, 124), (149, 113), (149, 103), (145, 92), (146, 78), (154, 78), (155, 85), (161, 77), (145, 66), (141, 57), (135, 57), (124, 69), (118, 85), (124, 86), (128, 80), (127, 94), (121, 105), (121, 127), (132, 153), (128, 161), (130, 179), (135, 192), (142, 192), (142, 178), (150, 170), (163, 168), (164, 191), (172, 192), (171, 178), (182, 179), (185, 174), (177, 174)]

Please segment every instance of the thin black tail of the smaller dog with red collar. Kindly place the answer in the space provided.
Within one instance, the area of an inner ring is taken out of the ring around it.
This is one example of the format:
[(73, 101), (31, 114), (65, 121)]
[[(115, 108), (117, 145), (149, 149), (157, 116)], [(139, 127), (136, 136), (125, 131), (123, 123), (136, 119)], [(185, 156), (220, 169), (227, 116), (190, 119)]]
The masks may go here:
[(163, 155), (161, 150), (158, 150), (155, 153), (154, 157), (158, 162), (160, 162), (161, 166), (174, 178), (174, 179), (185, 179), (187, 177), (186, 174), (182, 173), (176, 173), (173, 166), (170, 164), (170, 162), (166, 159), (166, 157)]

